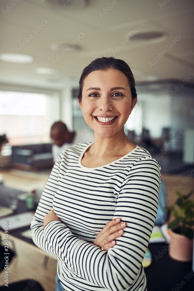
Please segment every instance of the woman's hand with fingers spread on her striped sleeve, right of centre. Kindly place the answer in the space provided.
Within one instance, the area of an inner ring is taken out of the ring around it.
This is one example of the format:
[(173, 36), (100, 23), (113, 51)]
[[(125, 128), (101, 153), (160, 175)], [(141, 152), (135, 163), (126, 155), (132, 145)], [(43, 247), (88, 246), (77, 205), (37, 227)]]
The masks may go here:
[(123, 228), (126, 227), (125, 222), (120, 223), (120, 218), (115, 218), (104, 226), (104, 228), (99, 232), (93, 244), (103, 248), (103, 251), (108, 251), (108, 249), (115, 246), (115, 238), (123, 235)]

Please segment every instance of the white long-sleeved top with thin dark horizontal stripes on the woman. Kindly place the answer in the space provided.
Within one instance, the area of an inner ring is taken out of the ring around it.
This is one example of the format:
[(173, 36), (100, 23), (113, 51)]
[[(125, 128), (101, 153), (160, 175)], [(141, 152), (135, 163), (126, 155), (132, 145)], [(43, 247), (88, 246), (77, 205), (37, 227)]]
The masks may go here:
[[(67, 291), (145, 291), (142, 260), (156, 218), (160, 166), (136, 146), (110, 164), (87, 168), (81, 158), (90, 145), (72, 145), (58, 157), (32, 219), (33, 242), (58, 259)], [(51, 209), (62, 222), (42, 231)], [(126, 222), (124, 234), (103, 251), (92, 242), (116, 217)]]

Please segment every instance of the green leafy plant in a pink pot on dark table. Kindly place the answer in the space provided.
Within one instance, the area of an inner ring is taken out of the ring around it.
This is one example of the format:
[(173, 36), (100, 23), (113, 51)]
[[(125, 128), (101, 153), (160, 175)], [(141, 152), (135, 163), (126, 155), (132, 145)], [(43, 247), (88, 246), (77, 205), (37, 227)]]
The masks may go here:
[(178, 196), (174, 205), (165, 207), (174, 220), (168, 224), (170, 229), (169, 255), (172, 259), (189, 262), (193, 255), (194, 200), (189, 199), (193, 191), (187, 195), (176, 191)]

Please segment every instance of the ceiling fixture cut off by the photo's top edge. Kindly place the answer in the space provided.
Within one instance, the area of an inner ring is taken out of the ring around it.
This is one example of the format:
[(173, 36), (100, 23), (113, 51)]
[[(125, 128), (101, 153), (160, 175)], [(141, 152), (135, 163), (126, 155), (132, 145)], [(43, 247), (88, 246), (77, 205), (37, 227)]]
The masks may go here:
[(62, 6), (64, 8), (82, 8), (87, 5), (86, 0), (43, 0), (46, 4), (52, 4), (55, 5), (55, 7), (58, 6), (58, 8), (61, 8)]

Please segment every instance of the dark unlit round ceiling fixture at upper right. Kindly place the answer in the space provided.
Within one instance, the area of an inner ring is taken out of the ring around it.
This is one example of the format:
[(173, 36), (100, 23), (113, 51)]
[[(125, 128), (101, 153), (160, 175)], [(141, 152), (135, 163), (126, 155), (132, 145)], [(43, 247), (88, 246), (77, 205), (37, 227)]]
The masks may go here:
[(143, 41), (143, 42), (160, 42), (168, 38), (168, 34), (163, 31), (130, 31), (126, 35), (133, 41)]

